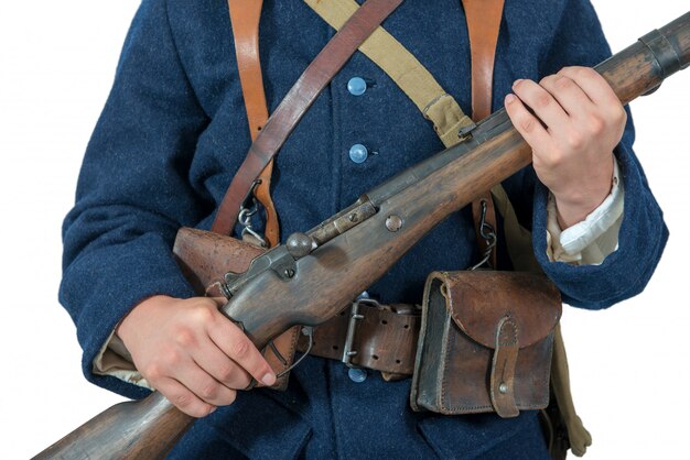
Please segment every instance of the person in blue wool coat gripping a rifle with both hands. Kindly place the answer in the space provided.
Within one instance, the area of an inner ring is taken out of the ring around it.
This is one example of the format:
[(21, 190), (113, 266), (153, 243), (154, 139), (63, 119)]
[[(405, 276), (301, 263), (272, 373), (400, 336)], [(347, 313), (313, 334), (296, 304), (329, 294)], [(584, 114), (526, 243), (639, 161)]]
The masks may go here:
[[(413, 413), (409, 379), (353, 376), (319, 357), (292, 371), (284, 393), (237, 394), (251, 377), (271, 385), (276, 375), (216, 302), (194, 294), (171, 254), (180, 227), (211, 227), (250, 145), (229, 28), (219, 0), (144, 0), (132, 23), (64, 226), (61, 302), (77, 324), (87, 377), (130, 397), (153, 387), (203, 417), (173, 458), (548, 458), (533, 412), (510, 419)], [(409, 0), (384, 28), (468, 111), (460, 2)], [(330, 34), (302, 2), (265, 6), (270, 109)], [(504, 187), (531, 228), (542, 270), (567, 303), (584, 308), (639, 293), (667, 239), (625, 110), (596, 73), (563, 68), (608, 54), (585, 0), (505, 4), (493, 106), (505, 105), (532, 147), (533, 168)], [(283, 234), (442, 149), (386, 73), (355, 54), (277, 157), (272, 195)], [(428, 273), (476, 262), (473, 227), (468, 210), (445, 220), (368, 294), (419, 303)], [(500, 265), (510, 266), (505, 254)]]

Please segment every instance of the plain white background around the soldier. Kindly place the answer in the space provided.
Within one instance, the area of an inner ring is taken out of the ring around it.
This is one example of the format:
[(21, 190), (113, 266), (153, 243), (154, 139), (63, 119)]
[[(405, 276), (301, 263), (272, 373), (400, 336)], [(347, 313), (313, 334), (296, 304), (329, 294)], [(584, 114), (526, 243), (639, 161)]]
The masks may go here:
[[(614, 52), (688, 9), (686, 0), (594, 4)], [(2, 459), (29, 458), (121, 401), (82, 376), (75, 329), (56, 297), (61, 222), (137, 7), (0, 6)], [(594, 436), (590, 460), (687, 456), (689, 88), (690, 70), (633, 102), (636, 151), (671, 230), (655, 277), (610, 310), (564, 313), (572, 386)]]

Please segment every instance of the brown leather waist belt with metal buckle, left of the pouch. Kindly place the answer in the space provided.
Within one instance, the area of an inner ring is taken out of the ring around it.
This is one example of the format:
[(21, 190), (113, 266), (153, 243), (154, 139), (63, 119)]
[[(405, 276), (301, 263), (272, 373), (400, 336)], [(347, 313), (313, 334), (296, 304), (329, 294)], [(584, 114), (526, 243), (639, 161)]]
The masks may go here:
[[(355, 300), (351, 308), (314, 328), (310, 354), (381, 371), (387, 380), (412, 375), (420, 315), (414, 305)], [(300, 337), (298, 350), (308, 348), (309, 338)]]

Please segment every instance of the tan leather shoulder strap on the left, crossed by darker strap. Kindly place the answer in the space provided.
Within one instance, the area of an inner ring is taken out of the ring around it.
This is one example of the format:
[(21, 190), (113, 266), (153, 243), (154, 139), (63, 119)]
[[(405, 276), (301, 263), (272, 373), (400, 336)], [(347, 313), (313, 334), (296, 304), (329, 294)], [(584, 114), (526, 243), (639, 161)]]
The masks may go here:
[[(257, 139), (268, 120), (259, 59), (259, 20), (262, 3), (263, 0), (228, 0), (239, 83), (242, 87), (245, 110), (247, 110), (249, 133), (252, 141)], [(278, 215), (270, 195), (272, 171), (273, 162), (271, 161), (261, 172), (260, 182), (254, 191), (266, 209), (265, 237), (270, 248), (277, 245), (280, 239)]]

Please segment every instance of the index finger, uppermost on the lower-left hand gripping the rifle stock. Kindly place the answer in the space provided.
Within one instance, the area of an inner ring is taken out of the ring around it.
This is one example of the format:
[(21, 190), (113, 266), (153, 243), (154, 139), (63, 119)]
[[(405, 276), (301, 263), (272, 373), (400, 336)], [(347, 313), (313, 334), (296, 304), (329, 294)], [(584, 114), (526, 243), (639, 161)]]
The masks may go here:
[(220, 320), (208, 326), (208, 337), (227, 357), (239, 364), (258, 382), (270, 386), (276, 374), (251, 340), (233, 321), (220, 315)]

